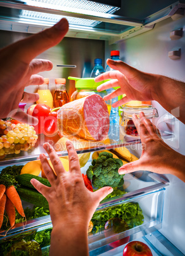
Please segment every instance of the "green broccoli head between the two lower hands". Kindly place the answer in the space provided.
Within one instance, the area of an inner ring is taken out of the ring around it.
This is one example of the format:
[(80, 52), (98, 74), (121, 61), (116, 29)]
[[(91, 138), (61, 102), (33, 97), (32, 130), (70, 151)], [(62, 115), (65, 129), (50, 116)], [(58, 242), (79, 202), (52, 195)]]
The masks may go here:
[(86, 174), (93, 180), (94, 187), (120, 187), (124, 184), (124, 175), (118, 174), (118, 169), (122, 165), (122, 160), (113, 158), (112, 153), (101, 152), (98, 159), (93, 160)]

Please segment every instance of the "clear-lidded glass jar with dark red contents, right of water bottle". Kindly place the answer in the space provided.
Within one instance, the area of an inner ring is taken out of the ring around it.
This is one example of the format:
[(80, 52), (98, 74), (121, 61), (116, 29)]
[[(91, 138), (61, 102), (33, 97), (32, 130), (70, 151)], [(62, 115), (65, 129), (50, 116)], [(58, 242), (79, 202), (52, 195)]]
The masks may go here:
[(158, 117), (158, 111), (156, 108), (153, 108), (151, 105), (141, 104), (139, 106), (134, 106), (131, 104), (125, 104), (122, 111), (122, 120), (120, 123), (120, 129), (124, 134), (127, 134), (132, 137), (139, 137), (136, 126), (132, 121), (132, 115), (136, 114), (139, 118), (139, 113), (143, 112), (145, 117), (148, 119)]

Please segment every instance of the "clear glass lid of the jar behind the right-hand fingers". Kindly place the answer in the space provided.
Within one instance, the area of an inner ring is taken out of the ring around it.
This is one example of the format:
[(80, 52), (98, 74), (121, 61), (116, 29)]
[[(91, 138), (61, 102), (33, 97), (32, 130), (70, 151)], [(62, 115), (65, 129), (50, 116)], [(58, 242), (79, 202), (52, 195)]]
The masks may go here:
[(158, 111), (148, 104), (141, 104), (136, 106), (134, 104), (125, 104), (123, 108), (123, 117), (132, 118), (133, 114), (136, 114), (139, 118), (139, 113), (143, 112), (146, 118), (156, 118), (158, 117)]

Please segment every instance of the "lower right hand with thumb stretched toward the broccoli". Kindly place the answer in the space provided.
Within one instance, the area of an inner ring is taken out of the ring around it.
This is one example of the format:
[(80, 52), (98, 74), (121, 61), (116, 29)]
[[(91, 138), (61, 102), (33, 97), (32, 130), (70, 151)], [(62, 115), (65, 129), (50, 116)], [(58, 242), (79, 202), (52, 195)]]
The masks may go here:
[(140, 170), (152, 171), (159, 174), (174, 174), (185, 181), (184, 155), (175, 152), (164, 143), (159, 134), (156, 133), (155, 126), (144, 116), (143, 112), (139, 114), (139, 118), (134, 114), (132, 120), (141, 138), (143, 152), (139, 160), (120, 167), (118, 173), (125, 174)]

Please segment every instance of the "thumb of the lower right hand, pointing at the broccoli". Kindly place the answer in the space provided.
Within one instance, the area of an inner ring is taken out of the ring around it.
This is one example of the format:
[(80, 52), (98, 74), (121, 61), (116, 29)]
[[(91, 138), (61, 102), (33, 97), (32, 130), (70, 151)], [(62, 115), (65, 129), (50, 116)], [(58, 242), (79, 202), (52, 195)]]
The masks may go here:
[(144, 170), (142, 159), (136, 160), (134, 162), (129, 162), (129, 164), (124, 164), (124, 166), (118, 169), (119, 174), (132, 173), (133, 171)]

